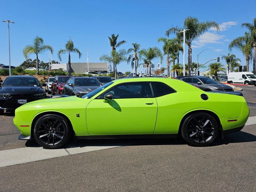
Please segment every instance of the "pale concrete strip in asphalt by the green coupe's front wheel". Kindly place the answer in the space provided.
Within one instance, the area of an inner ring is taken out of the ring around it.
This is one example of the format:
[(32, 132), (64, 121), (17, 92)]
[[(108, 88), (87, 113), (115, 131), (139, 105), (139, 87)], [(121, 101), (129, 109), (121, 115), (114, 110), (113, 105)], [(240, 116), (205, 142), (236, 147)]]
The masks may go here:
[(115, 147), (121, 146), (86, 146), (54, 150), (44, 149), (42, 147), (24, 147), (10, 150), (2, 150), (0, 151), (0, 167), (29, 163), (34, 161), (51, 159), (55, 157), (68, 156)]

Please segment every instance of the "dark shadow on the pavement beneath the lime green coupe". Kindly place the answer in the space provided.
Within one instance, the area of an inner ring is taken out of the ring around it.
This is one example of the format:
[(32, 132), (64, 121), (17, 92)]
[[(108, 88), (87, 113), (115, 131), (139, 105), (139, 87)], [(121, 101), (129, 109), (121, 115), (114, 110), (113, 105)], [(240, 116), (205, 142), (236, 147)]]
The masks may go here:
[[(218, 137), (213, 144), (208, 147), (227, 145), (230, 143), (255, 142), (256, 136), (247, 132), (239, 131), (224, 136), (224, 139)], [(26, 142), (26, 147), (39, 147), (35, 140)], [(76, 148), (88, 146), (143, 146), (143, 145), (187, 145), (182, 138), (161, 138), (161, 139), (94, 139), (94, 140), (76, 140), (70, 139), (63, 148)]]

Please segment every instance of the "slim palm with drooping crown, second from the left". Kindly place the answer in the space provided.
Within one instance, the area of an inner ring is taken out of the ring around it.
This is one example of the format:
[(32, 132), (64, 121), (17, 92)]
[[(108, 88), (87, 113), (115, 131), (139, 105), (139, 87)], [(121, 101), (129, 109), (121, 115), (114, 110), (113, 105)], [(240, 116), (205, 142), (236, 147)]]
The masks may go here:
[(58, 51), (58, 58), (61, 61), (61, 55), (68, 53), (68, 75), (71, 76), (70, 53), (77, 53), (79, 58), (81, 58), (82, 53), (78, 50), (78, 48), (74, 47), (74, 43), (71, 39), (67, 41), (65, 48), (66, 49), (60, 49)]

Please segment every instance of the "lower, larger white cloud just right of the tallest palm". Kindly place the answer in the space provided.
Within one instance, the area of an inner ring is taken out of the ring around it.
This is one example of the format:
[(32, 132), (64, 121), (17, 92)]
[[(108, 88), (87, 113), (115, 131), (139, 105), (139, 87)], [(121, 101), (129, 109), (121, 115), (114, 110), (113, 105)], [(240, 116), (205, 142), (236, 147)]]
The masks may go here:
[(192, 48), (201, 48), (208, 43), (222, 43), (220, 42), (220, 40), (222, 40), (224, 37), (224, 35), (206, 32), (205, 34), (201, 35), (196, 41), (194, 41), (194, 45), (192, 45)]

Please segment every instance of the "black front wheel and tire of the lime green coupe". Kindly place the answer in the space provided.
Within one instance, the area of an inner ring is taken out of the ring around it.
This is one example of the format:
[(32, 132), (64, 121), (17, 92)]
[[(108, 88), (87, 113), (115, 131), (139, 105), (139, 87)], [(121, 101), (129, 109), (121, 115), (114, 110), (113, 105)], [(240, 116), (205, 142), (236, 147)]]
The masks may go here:
[(62, 116), (47, 114), (40, 117), (34, 126), (36, 142), (46, 149), (62, 147), (69, 140), (71, 128)]

